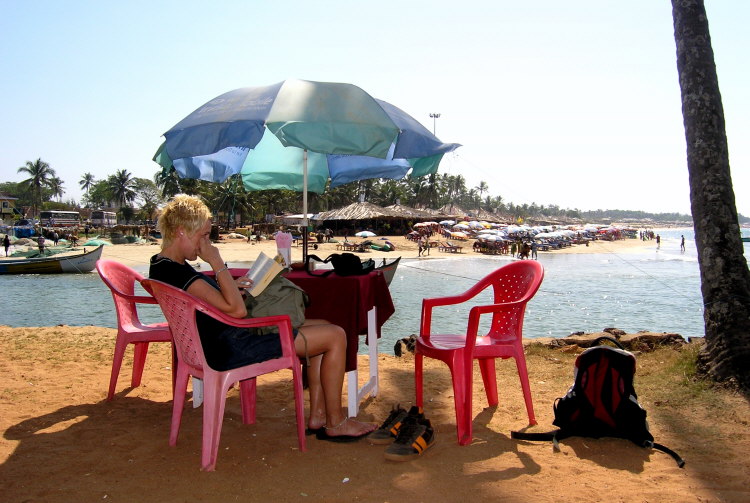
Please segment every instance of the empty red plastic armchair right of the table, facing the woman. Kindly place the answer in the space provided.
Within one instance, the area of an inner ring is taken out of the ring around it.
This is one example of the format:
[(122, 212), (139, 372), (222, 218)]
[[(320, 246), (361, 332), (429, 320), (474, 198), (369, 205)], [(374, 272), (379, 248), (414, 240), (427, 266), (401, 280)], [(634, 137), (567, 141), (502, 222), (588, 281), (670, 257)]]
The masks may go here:
[[(423, 358), (426, 356), (445, 362), (453, 378), (456, 433), (460, 445), (470, 443), (472, 438), (474, 360), (479, 360), (487, 401), (490, 406), (494, 406), (498, 404), (495, 358), (515, 358), (529, 424), (536, 424), (523, 352), (522, 330), (526, 303), (536, 294), (543, 278), (544, 269), (539, 262), (522, 260), (497, 269), (460, 295), (422, 300), (420, 334), (414, 351), (416, 404), (422, 407), (424, 403)], [(465, 334), (432, 333), (433, 308), (461, 304), (489, 287), (494, 290), (494, 303), (470, 309)], [(477, 337), (480, 316), (484, 314), (492, 314), (492, 322), (487, 334)]]

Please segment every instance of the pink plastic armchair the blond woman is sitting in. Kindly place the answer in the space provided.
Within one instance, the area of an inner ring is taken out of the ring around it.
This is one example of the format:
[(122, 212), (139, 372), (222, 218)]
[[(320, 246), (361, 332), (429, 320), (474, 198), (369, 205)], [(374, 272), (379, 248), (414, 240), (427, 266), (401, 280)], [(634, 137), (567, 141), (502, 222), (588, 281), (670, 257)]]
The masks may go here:
[[(172, 426), (169, 445), (177, 444), (180, 432), (182, 408), (185, 403), (188, 377), (193, 375), (203, 379), (203, 451), (201, 468), (213, 471), (219, 450), (221, 425), (224, 418), (226, 395), (229, 388), (240, 382), (242, 422), (255, 423), (255, 377), (276, 370), (291, 369), (294, 383), (294, 400), (297, 412), (297, 439), (301, 451), (307, 450), (305, 443), (304, 399), (302, 396), (302, 376), (299, 359), (294, 350), (294, 337), (289, 316), (268, 316), (263, 318), (233, 318), (189, 293), (156, 280), (144, 280), (144, 288), (159, 301), (159, 306), (167, 318), (177, 347), (177, 383), (172, 408)], [(206, 363), (201, 346), (196, 312), (205, 313), (227, 325), (236, 327), (277, 327), (281, 338), (282, 356), (261, 363), (218, 372)]]

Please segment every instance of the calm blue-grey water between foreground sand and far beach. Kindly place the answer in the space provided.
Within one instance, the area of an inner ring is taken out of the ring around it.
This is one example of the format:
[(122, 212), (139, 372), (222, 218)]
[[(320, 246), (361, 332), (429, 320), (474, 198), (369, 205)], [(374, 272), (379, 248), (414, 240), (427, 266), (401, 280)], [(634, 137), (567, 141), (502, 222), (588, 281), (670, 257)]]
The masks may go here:
[[(565, 337), (606, 327), (702, 336), (703, 302), (692, 229), (660, 234), (659, 249), (651, 241), (645, 252), (540, 253), (545, 278), (527, 307), (524, 336)], [(681, 253), (683, 234), (687, 249)], [(744, 244), (746, 256), (750, 256), (749, 245)], [(422, 298), (463, 292), (509, 260), (502, 256), (402, 260), (391, 283), (396, 313), (383, 326), (380, 351), (391, 353), (398, 339), (419, 332)], [(116, 327), (112, 297), (95, 272), (3, 275), (0, 291), (2, 325)], [(163, 320), (157, 306), (145, 306), (140, 312), (145, 321)], [(433, 329), (463, 331), (467, 312), (465, 306), (441, 308), (433, 316)]]

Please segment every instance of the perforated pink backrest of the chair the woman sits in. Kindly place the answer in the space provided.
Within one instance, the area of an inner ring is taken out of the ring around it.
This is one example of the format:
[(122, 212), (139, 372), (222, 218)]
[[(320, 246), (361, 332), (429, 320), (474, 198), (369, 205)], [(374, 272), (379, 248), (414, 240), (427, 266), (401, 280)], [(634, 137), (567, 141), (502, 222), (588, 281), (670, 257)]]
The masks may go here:
[(161, 281), (146, 279), (142, 284), (159, 302), (169, 323), (179, 358), (191, 367), (210, 368), (206, 363), (195, 323), (197, 311), (206, 312), (210, 309), (197, 297)]

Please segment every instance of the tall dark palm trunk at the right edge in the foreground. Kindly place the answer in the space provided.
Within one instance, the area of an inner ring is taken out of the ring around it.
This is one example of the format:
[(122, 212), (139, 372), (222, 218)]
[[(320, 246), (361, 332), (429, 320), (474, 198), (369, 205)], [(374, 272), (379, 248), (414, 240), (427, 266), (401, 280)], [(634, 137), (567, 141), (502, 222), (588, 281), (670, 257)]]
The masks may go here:
[(699, 369), (750, 391), (750, 271), (743, 254), (703, 0), (672, 0), (706, 345)]

